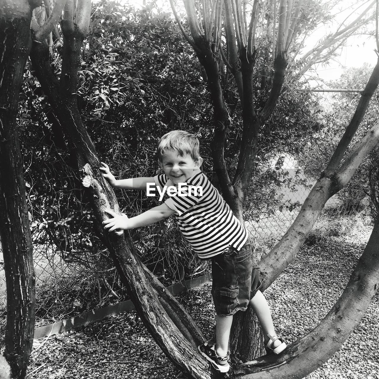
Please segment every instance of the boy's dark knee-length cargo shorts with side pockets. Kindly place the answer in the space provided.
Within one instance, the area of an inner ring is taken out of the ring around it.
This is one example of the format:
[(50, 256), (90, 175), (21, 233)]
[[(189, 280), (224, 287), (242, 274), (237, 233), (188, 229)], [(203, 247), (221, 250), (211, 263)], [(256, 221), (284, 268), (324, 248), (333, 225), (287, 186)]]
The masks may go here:
[(229, 250), (211, 258), (212, 297), (216, 314), (234, 315), (245, 311), (265, 280), (255, 263), (251, 243), (247, 241), (240, 250)]

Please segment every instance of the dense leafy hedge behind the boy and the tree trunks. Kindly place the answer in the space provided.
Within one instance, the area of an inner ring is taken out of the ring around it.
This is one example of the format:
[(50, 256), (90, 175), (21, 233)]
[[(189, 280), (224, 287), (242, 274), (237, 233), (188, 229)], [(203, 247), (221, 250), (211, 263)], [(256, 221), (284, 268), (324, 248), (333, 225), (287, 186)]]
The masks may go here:
[[(94, 7), (91, 14), (78, 97), (83, 121), (101, 159), (118, 177), (152, 176), (158, 169), (154, 155), (158, 139), (180, 128), (199, 136), (203, 170), (211, 175), (212, 111), (208, 91), (193, 50), (175, 22), (153, 4), (136, 10), (108, 2)], [(61, 53), (62, 41), (56, 39), (52, 63), (58, 76)], [(109, 274), (113, 265), (93, 229), (88, 199), (72, 169), (75, 163), (52, 108), (31, 74), (28, 67), (19, 130), (34, 242), (52, 241), (65, 262), (92, 267), (100, 279), (113, 281)], [(229, 85), (228, 91), (235, 92), (233, 81)], [(278, 200), (280, 185), (293, 186), (294, 179), (285, 171), (273, 170), (269, 163), (277, 156), (280, 168), (282, 153), (301, 150), (309, 131), (318, 128), (312, 111), (315, 106), (312, 97), (293, 91), (293, 87), (280, 98), (259, 135), (247, 214), (259, 217), (274, 209), (299, 205)], [(230, 116), (226, 161), (232, 172), (241, 144), (242, 117), (238, 110)], [(137, 191), (119, 191), (117, 196), (123, 211), (132, 216), (156, 204)], [(133, 230), (132, 238), (144, 262), (163, 280), (179, 280), (207, 269), (193, 257), (171, 222)]]

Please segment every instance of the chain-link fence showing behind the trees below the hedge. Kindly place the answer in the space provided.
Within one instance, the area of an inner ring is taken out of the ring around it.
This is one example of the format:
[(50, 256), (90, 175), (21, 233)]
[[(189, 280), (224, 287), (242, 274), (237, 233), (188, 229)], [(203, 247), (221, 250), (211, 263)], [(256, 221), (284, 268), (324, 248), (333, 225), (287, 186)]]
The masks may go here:
[[(288, 169), (288, 168), (287, 168)], [(290, 169), (291, 171), (291, 169)], [(293, 169), (293, 172), (296, 170)], [(305, 178), (302, 178), (305, 179)], [(312, 185), (315, 182), (303, 181), (301, 184), (291, 184), (278, 186), (277, 183), (271, 184), (268, 193), (272, 195), (270, 204), (260, 207), (259, 211), (254, 212), (254, 217), (247, 219), (246, 226), (251, 232), (257, 244), (265, 244), (266, 241), (277, 241), (288, 230), (299, 213), (300, 207), (307, 198)], [(282, 204), (282, 205), (281, 205)], [(283, 206), (284, 204), (284, 206)], [(291, 206), (294, 205), (293, 207)], [(332, 197), (326, 204), (325, 208), (338, 208), (341, 200), (337, 196)], [(94, 297), (97, 297), (97, 304), (101, 305), (102, 299), (108, 296), (116, 297), (117, 294), (113, 290), (111, 280), (104, 279), (99, 273), (91, 271), (90, 267), (79, 264), (64, 262), (55, 246), (35, 245), (33, 252), (34, 268), (36, 273), (36, 294), (37, 297), (45, 289), (47, 289), (52, 301), (47, 301), (48, 305), (44, 305), (46, 309), (38, 309), (40, 319), (50, 319), (49, 309), (51, 307), (61, 307), (67, 310), (67, 301), (70, 301), (72, 311), (75, 311), (78, 304), (75, 305), (75, 290), (82, 291), (83, 286), (99, 287), (98, 291), (94, 291)], [(0, 251), (0, 260), (3, 260)], [(3, 267), (0, 270), (0, 312), (5, 312), (6, 305), (6, 285), (5, 273)], [(109, 273), (108, 273), (109, 274)], [(116, 278), (116, 270), (111, 273)], [(109, 276), (108, 276), (109, 278)], [(105, 281), (104, 281), (105, 280)], [(100, 282), (102, 291), (100, 291)], [(62, 293), (62, 287), (67, 290), (66, 294)], [(104, 292), (105, 288), (105, 292)], [(88, 290), (91, 290), (88, 288)], [(74, 291), (74, 294), (69, 292)], [(96, 294), (95, 294), (96, 292)], [(44, 294), (46, 296), (46, 293)], [(49, 295), (48, 295), (49, 296)], [(46, 301), (44, 302), (46, 303)], [(79, 304), (80, 305), (80, 304)], [(42, 305), (41, 305), (42, 306)], [(50, 308), (49, 308), (50, 307)], [(66, 316), (70, 316), (69, 313)]]

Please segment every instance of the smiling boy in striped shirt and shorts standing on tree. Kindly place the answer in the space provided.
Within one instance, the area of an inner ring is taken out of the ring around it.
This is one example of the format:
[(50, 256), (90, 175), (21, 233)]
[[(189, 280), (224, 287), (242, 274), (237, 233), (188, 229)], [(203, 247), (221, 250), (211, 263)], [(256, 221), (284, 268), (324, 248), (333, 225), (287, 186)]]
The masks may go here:
[(202, 356), (216, 370), (223, 373), (229, 370), (227, 350), (233, 315), (238, 310), (246, 310), (249, 303), (262, 326), (267, 352), (279, 354), (286, 344), (276, 335), (268, 304), (258, 289), (262, 280), (252, 256), (248, 232), (201, 172), (198, 139), (182, 130), (169, 132), (161, 138), (157, 156), (164, 174), (149, 178), (116, 180), (102, 163), (103, 176), (115, 188), (168, 194), (163, 204), (132, 218), (106, 210), (113, 218), (103, 222), (104, 228), (110, 232), (133, 229), (175, 214), (194, 252), (202, 259), (211, 258), (212, 263), (216, 339), (199, 346)]

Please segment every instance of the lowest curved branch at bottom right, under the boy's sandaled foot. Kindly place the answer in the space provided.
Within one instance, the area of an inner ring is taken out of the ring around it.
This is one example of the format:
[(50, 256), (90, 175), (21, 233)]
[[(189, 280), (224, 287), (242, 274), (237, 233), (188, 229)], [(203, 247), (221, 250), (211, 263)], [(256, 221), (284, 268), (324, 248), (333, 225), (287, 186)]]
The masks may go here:
[(379, 282), (379, 224), (375, 224), (345, 290), (323, 321), (292, 343), (280, 357), (263, 357), (238, 366), (238, 379), (300, 379), (326, 362), (357, 326), (376, 294)]

